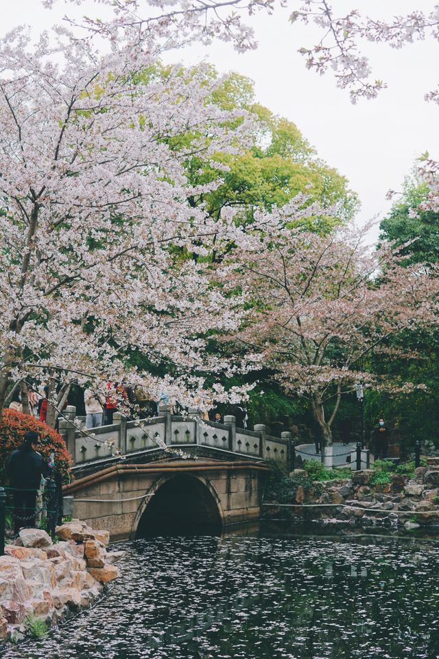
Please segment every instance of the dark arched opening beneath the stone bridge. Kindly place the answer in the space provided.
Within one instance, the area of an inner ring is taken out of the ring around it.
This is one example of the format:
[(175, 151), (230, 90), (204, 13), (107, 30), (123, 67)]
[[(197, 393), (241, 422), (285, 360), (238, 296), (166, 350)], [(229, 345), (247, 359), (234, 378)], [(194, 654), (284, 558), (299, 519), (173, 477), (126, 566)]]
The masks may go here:
[(136, 539), (154, 535), (219, 533), (222, 520), (209, 488), (198, 478), (174, 476), (150, 499), (139, 520)]

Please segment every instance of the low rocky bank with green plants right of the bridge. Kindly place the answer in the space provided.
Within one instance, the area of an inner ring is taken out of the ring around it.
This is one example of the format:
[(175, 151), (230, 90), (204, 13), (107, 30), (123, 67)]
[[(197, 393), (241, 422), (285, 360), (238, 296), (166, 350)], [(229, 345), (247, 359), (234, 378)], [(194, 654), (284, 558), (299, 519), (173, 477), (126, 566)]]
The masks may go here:
[[(414, 478), (390, 474), (390, 483), (374, 483), (373, 470), (352, 472), (352, 478), (320, 483), (323, 492), (307, 502), (326, 507), (308, 508), (307, 518), (326, 518), (349, 524), (389, 524), (410, 529), (439, 527), (439, 469), (418, 467)], [(303, 493), (296, 494), (303, 503)], [(328, 504), (336, 505), (334, 507)], [(294, 509), (295, 513), (299, 509)]]

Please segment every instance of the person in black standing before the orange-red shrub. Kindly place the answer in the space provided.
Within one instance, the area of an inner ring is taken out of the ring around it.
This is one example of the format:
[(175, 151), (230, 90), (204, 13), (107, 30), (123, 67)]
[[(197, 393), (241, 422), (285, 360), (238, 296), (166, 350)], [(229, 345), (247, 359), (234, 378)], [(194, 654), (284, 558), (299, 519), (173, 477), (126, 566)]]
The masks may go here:
[(14, 534), (23, 527), (35, 526), (36, 495), (41, 476), (47, 478), (51, 469), (36, 450), (40, 437), (29, 430), (20, 448), (12, 452), (5, 465), (6, 475), (14, 494)]

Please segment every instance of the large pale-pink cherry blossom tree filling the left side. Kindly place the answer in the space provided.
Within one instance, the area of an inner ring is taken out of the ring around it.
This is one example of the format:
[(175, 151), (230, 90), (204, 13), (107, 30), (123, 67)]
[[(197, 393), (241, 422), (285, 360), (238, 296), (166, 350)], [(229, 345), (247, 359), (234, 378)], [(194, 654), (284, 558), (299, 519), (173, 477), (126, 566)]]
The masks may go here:
[[(155, 62), (46, 36), (32, 47), (20, 28), (3, 39), (0, 413), (18, 380), (49, 380), (61, 397), (73, 380), (157, 399), (166, 386), (190, 404), (204, 391), (197, 373), (237, 368), (206, 355), (204, 336), (237, 327), (239, 298), (211, 286), (207, 259), (176, 265), (173, 250), (202, 257), (235, 235), (189, 205), (216, 183), (189, 185), (184, 165), (237, 152), (251, 122), (209, 102), (202, 69), (155, 76)], [(165, 382), (130, 366), (136, 351), (165, 365)]]

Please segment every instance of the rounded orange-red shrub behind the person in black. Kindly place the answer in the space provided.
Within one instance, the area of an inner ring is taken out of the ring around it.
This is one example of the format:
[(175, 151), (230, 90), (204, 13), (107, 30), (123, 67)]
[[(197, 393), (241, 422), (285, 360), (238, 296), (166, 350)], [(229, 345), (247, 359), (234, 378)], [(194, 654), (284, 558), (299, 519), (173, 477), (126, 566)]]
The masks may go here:
[(6, 460), (23, 443), (28, 430), (35, 430), (40, 435), (38, 452), (47, 458), (47, 462), (51, 452), (54, 452), (54, 470), (61, 475), (62, 483), (69, 483), (71, 457), (61, 435), (35, 417), (15, 410), (3, 410), (0, 418), (0, 484), (5, 484)]

